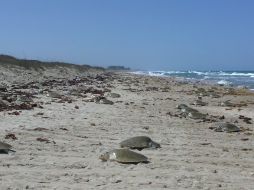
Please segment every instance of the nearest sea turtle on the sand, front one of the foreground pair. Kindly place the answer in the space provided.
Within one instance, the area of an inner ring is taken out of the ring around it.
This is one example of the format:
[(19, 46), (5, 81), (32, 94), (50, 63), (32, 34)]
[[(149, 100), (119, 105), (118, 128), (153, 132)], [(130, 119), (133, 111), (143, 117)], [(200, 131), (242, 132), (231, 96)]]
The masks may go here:
[(114, 149), (99, 157), (102, 161), (116, 161), (124, 164), (148, 163), (148, 158), (129, 149)]

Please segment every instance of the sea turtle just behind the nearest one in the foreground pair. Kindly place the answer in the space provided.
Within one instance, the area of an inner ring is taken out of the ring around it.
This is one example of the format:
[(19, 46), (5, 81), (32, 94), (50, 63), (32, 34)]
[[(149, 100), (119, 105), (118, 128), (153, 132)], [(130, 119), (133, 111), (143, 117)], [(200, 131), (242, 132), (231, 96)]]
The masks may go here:
[(124, 140), (120, 143), (122, 148), (138, 149), (142, 150), (144, 148), (160, 148), (160, 144), (152, 141), (151, 138), (147, 136), (137, 136)]

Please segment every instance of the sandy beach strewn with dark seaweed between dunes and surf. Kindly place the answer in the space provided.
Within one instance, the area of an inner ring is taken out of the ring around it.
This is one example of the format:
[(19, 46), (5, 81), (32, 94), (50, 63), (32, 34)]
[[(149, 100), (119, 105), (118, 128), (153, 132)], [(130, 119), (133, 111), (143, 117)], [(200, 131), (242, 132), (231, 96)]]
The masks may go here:
[[(0, 141), (16, 151), (0, 154), (0, 189), (253, 189), (254, 94), (248, 90), (121, 72), (55, 80), (52, 73), (16, 81), (2, 73), (2, 99), (23, 92), (33, 103), (0, 112)], [(205, 106), (192, 105), (198, 97)], [(227, 100), (230, 105), (222, 104)], [(182, 114), (179, 104), (206, 119)], [(217, 122), (241, 131), (216, 132)], [(161, 145), (137, 151), (149, 163), (99, 159), (140, 135)]]

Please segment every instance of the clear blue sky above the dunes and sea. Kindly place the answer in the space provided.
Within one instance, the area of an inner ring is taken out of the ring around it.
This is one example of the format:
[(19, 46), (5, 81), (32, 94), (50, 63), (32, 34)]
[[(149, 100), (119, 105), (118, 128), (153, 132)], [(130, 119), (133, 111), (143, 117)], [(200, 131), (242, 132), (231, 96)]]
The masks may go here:
[(146, 70), (254, 70), (253, 0), (0, 0), (0, 53)]

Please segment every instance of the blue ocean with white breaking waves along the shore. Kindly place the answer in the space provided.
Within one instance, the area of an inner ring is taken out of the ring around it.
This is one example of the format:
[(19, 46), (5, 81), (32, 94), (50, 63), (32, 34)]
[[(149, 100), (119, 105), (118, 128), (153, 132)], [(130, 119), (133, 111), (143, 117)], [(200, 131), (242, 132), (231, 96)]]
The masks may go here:
[(135, 74), (177, 77), (187, 81), (241, 86), (254, 90), (254, 71), (135, 71)]

